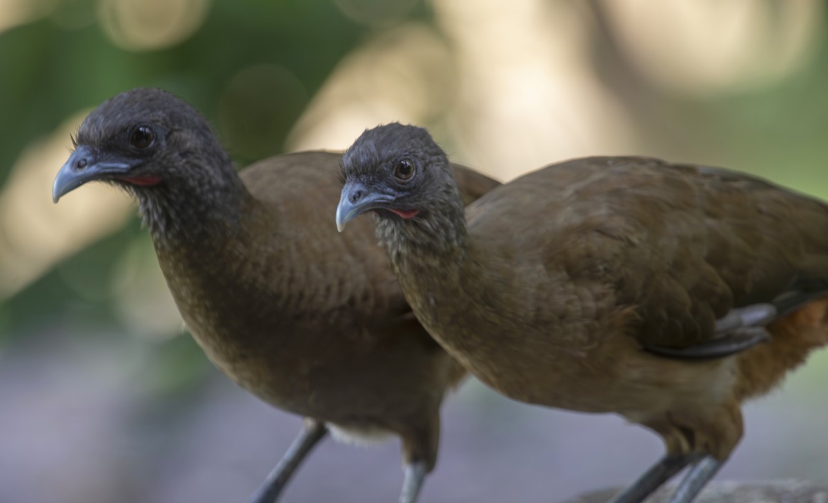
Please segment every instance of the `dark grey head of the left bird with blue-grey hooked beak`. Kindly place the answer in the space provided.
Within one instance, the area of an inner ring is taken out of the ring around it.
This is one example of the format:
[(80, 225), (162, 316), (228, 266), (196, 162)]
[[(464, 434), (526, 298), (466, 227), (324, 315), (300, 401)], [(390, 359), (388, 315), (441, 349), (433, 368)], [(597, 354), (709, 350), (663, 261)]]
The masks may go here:
[(86, 117), (73, 143), (55, 176), (55, 203), (93, 180), (141, 197), (180, 180), (209, 180), (210, 166), (230, 164), (204, 117), (161, 89), (132, 89), (104, 102)]

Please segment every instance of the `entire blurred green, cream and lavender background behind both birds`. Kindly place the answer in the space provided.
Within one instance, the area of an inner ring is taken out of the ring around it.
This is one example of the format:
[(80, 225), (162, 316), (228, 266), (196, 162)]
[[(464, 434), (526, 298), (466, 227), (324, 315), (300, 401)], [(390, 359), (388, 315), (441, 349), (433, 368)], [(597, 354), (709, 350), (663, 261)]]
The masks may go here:
[[(240, 166), (399, 120), (501, 180), (634, 153), (826, 198), (826, 22), (818, 0), (0, 0), (0, 501), (245, 501), (299, 428), (182, 331), (126, 196), (51, 204), (104, 99), (169, 89)], [(826, 382), (822, 351), (749, 405), (720, 478), (828, 481)], [(476, 382), (444, 424), (423, 501), (561, 501), (661, 453)], [(394, 501), (397, 456), (325, 442), (286, 501)]]

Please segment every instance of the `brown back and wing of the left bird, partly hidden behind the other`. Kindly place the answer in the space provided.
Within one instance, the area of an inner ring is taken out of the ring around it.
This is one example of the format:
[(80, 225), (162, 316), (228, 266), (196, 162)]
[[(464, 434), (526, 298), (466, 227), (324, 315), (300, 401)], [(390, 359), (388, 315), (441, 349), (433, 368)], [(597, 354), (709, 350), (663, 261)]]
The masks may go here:
[[(328, 313), (333, 322), (416, 323), (388, 253), (377, 245), (372, 218), (357, 218), (349, 224), (349, 232), (336, 232), (332, 215), (342, 189), (340, 158), (337, 152), (296, 152), (241, 171), (253, 197), (278, 215), (277, 221), (263, 223), (270, 228), (260, 231), (272, 238), (259, 241), (282, 247), (279, 256), (290, 266), (274, 266), (269, 280), (279, 290), (291, 291), (286, 299), (301, 302), (295, 306), (297, 311), (317, 317)], [(464, 166), (455, 170), (465, 200), (477, 199), (499, 185)]]

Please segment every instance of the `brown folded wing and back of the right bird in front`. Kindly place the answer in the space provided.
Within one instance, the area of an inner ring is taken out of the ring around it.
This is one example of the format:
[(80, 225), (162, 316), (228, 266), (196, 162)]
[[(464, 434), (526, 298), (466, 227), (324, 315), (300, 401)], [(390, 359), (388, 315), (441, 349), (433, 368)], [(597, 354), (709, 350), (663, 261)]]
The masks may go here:
[(828, 207), (728, 170), (640, 157), (571, 160), (493, 191), (469, 213), (477, 215), (470, 229), (491, 231), (498, 218), (517, 223), (508, 253), (540, 250), (527, 257), (546, 273), (537, 299), (555, 302), (543, 290), (566, 285), (596, 313), (632, 308), (627, 332), (644, 347), (711, 343), (723, 335), (717, 319), (731, 310), (784, 306), (779, 299), (825, 290), (828, 279)]

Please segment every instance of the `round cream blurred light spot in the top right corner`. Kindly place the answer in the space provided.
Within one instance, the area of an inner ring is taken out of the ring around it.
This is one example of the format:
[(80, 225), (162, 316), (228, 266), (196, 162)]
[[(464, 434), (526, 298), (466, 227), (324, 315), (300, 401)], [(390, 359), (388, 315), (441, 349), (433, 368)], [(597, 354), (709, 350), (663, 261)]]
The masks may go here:
[(621, 48), (657, 84), (707, 94), (769, 84), (822, 36), (818, 0), (604, 0)]

